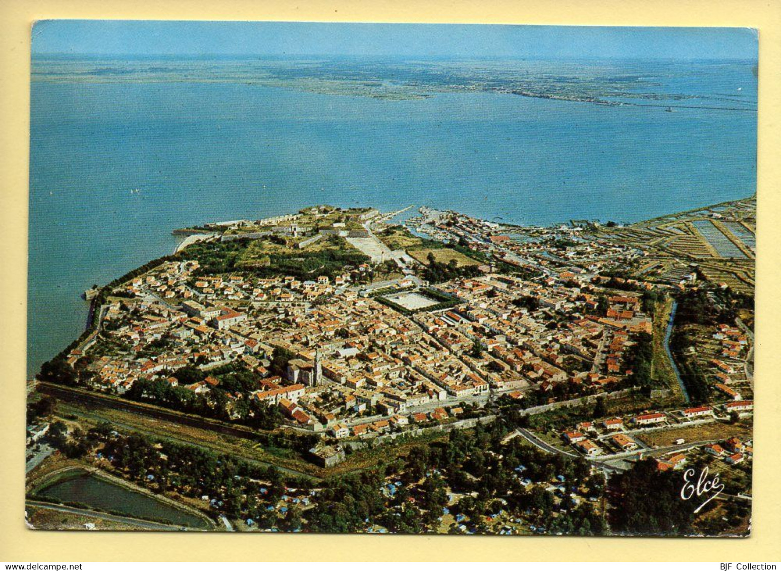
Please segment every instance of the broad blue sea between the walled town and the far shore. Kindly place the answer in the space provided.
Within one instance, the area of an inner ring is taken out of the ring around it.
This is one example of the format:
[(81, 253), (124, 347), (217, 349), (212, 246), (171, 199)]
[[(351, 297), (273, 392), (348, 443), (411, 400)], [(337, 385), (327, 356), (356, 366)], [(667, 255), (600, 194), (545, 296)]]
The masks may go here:
[[(659, 92), (756, 97), (750, 65), (679, 82)], [(173, 251), (176, 227), (324, 203), (631, 222), (756, 184), (754, 112), (181, 81), (34, 81), (31, 100), (28, 374), (83, 330), (85, 288)]]

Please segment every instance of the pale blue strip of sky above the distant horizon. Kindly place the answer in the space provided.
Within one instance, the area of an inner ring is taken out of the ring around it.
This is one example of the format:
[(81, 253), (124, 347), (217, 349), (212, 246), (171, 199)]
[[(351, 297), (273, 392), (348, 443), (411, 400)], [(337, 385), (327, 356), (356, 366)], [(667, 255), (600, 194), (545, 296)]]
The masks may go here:
[(41, 20), (33, 54), (757, 59), (748, 28)]

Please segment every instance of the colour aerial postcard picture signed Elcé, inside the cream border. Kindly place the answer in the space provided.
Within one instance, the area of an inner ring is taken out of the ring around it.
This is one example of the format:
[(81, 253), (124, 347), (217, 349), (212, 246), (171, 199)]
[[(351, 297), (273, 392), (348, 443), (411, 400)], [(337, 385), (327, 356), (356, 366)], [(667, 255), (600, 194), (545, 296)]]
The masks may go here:
[(30, 530), (751, 534), (756, 30), (31, 34)]

